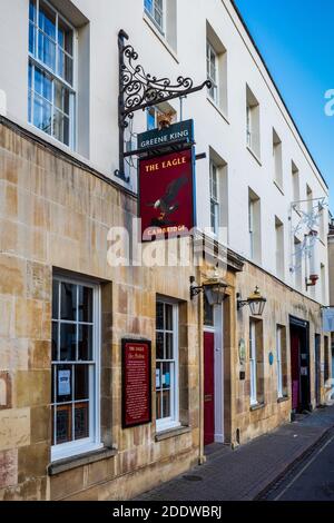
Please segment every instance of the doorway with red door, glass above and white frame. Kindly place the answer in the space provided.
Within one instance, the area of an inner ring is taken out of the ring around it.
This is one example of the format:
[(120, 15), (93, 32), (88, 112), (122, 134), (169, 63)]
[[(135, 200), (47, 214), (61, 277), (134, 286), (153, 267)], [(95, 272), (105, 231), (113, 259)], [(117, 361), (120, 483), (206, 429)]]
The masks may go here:
[(222, 306), (204, 299), (204, 444), (224, 443)]

